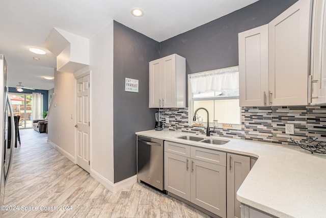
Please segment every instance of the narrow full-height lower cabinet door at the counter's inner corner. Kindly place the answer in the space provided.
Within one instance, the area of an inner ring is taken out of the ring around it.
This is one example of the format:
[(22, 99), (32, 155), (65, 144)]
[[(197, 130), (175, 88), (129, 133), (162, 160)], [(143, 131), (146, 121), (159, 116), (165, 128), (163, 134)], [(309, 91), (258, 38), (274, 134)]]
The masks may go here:
[(250, 171), (250, 157), (236, 154), (227, 154), (227, 214), (228, 218), (241, 217), (240, 202), (236, 199), (236, 192)]

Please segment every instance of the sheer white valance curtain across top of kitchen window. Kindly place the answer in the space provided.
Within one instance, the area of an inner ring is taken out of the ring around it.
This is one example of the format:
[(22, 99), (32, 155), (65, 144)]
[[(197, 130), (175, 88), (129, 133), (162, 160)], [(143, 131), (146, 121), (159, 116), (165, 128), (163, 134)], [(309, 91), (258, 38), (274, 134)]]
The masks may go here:
[(192, 93), (238, 92), (239, 67), (199, 72), (190, 76)]

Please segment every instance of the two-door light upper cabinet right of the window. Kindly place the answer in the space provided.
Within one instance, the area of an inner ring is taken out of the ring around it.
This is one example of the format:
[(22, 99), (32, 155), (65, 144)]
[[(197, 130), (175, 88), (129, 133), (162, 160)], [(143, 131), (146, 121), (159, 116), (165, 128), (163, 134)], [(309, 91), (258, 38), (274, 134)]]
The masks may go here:
[(239, 33), (240, 106), (308, 104), (311, 16), (312, 0), (299, 0)]

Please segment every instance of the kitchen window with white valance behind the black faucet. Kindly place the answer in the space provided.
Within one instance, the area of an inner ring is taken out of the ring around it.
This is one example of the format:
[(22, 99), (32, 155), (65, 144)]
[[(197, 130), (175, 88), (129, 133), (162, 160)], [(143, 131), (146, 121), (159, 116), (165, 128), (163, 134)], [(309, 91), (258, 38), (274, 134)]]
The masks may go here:
[(209, 112), (210, 127), (218, 120), (218, 127), (241, 128), (241, 107), (239, 106), (239, 68), (238, 66), (199, 72), (188, 75), (189, 123), (207, 125), (207, 114), (199, 110), (196, 122), (193, 122), (197, 108), (206, 108)]

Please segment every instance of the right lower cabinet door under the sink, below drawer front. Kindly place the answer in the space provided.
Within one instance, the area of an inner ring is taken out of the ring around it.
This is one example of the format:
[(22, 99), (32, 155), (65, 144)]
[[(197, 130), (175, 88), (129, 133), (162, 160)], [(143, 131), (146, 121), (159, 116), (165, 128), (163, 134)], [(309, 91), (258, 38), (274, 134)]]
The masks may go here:
[(226, 167), (192, 159), (191, 202), (226, 217)]

